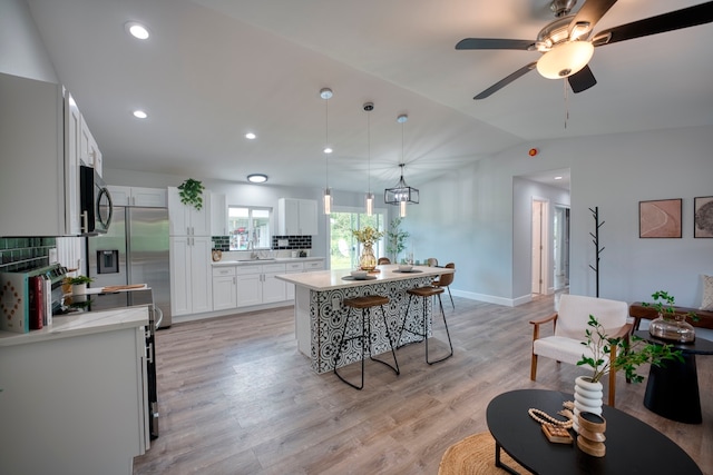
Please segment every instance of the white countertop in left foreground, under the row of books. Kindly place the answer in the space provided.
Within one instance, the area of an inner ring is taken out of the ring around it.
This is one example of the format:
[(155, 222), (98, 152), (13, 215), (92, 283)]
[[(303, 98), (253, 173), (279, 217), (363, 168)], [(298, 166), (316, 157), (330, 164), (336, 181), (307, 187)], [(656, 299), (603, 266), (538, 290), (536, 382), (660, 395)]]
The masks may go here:
[(39, 330), (31, 330), (25, 334), (0, 331), (0, 347), (91, 335), (144, 325), (148, 325), (147, 307), (56, 315), (52, 317), (51, 326)]

